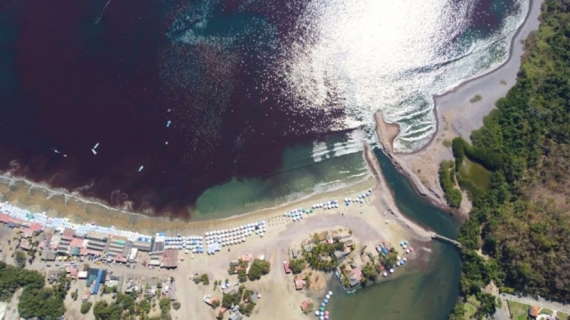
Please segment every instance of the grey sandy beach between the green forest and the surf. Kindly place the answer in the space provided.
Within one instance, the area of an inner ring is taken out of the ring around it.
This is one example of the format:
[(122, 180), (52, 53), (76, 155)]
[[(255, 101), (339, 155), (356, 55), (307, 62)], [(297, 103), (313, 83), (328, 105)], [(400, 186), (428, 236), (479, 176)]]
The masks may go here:
[[(531, 0), (525, 21), (513, 36), (509, 59), (500, 67), (476, 76), (458, 85), (451, 92), (435, 96), (437, 131), (428, 145), (413, 153), (396, 153), (392, 140), (398, 132), (397, 124), (386, 124), (377, 114), (379, 142), (398, 168), (413, 182), (419, 194), (437, 205), (446, 206), (439, 186), (437, 171), (442, 160), (452, 159), (452, 150), (444, 146), (461, 136), (467, 140), (473, 130), (483, 125), (483, 118), (495, 108), (495, 101), (504, 97), (517, 82), (517, 72), (525, 53), (525, 39), (540, 24), (542, 0)], [(473, 100), (478, 95), (480, 99)], [(464, 195), (467, 199), (467, 196)], [(460, 212), (467, 215), (468, 201), (463, 201)]]

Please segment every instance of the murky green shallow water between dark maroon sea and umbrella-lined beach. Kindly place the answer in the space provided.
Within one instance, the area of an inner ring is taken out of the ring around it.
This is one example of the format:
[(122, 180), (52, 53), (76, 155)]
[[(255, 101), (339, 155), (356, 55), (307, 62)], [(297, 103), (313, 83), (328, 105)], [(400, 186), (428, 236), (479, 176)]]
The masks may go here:
[(343, 136), (324, 140), (319, 162), (314, 161), (313, 145), (286, 148), (279, 171), (251, 179), (234, 178), (206, 190), (191, 212), (192, 220), (226, 218), (362, 182), (369, 176), (362, 152), (335, 156), (335, 146), (340, 145), (346, 145)]

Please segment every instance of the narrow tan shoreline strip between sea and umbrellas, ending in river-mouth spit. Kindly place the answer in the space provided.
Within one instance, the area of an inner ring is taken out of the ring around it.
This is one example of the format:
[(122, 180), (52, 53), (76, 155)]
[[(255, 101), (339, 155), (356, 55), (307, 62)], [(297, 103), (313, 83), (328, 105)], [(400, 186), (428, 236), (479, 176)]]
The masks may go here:
[(400, 220), (407, 228), (412, 228), (422, 238), (426, 237), (428, 234), (424, 228), (408, 220), (399, 212), (392, 190), (384, 184), (378, 162), (368, 146), (364, 147), (362, 156), (368, 164), (369, 177), (361, 183), (324, 193), (311, 194), (292, 202), (232, 215), (223, 219), (186, 221), (169, 217), (149, 216), (139, 212), (127, 212), (77, 194), (53, 190), (41, 183), (6, 175), (0, 176), (0, 196), (3, 196), (4, 201), (9, 201), (11, 204), (30, 212), (46, 212), (48, 216), (68, 218), (73, 223), (94, 222), (99, 225), (131, 229), (139, 233), (149, 234), (164, 230), (175, 233), (191, 231), (199, 234), (211, 229), (231, 228), (243, 223), (264, 220), (268, 217), (282, 215), (282, 212), (288, 212), (293, 208), (310, 207), (314, 203), (321, 203), (330, 198), (354, 196), (369, 188), (374, 190), (380, 188), (382, 190), (379, 197), (382, 205), (394, 212), (396, 219)]

